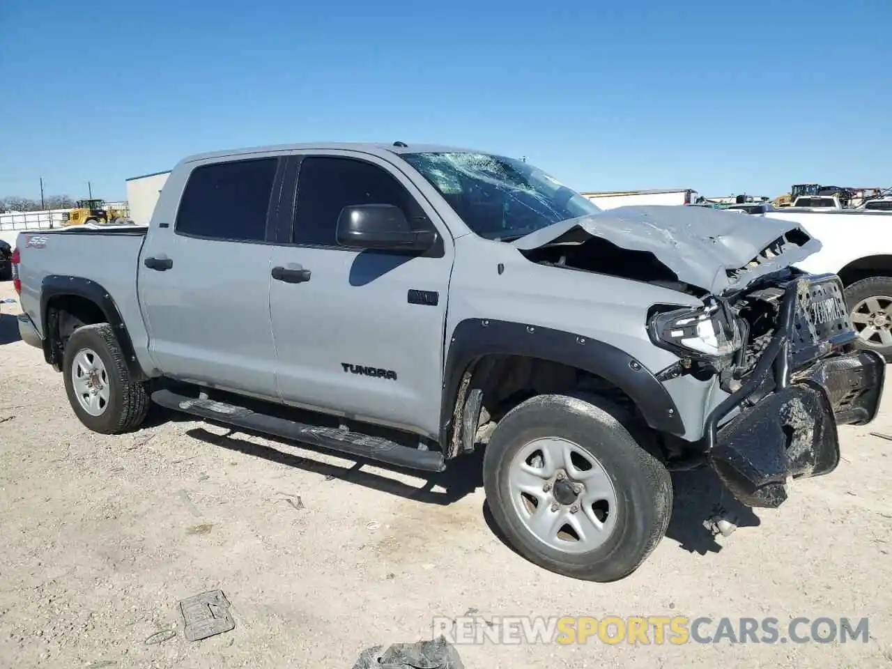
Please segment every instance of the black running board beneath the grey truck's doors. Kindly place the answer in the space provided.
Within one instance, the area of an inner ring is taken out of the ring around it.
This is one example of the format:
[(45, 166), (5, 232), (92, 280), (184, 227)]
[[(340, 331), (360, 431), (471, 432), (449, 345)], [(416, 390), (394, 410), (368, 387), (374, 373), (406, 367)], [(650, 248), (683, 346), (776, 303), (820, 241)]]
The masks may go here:
[(295, 442), (339, 450), (351, 456), (385, 462), (395, 467), (419, 469), (425, 472), (442, 472), (446, 460), (438, 450), (419, 450), (392, 442), (384, 437), (351, 432), (337, 427), (319, 427), (258, 413), (252, 409), (225, 402), (187, 397), (169, 390), (152, 393), (152, 401), (166, 409), (182, 411), (192, 416), (227, 423), (246, 430), (275, 434)]

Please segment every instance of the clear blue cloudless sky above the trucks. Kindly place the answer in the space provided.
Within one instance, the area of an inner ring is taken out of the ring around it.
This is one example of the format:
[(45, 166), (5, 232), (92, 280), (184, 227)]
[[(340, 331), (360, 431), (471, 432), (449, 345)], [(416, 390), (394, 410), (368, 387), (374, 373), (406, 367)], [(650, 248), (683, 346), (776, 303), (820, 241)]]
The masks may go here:
[(2, 0), (0, 196), (401, 140), (579, 190), (892, 186), (892, 3)]

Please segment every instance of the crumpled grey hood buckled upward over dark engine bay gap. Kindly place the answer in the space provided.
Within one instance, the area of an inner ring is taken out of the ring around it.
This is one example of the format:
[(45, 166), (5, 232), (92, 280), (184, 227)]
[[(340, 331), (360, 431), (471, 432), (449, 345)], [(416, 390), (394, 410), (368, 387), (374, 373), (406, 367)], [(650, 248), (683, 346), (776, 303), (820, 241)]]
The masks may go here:
[(747, 225), (702, 207), (620, 207), (569, 219), (511, 243), (528, 260), (727, 295), (821, 249), (803, 227), (774, 219)]

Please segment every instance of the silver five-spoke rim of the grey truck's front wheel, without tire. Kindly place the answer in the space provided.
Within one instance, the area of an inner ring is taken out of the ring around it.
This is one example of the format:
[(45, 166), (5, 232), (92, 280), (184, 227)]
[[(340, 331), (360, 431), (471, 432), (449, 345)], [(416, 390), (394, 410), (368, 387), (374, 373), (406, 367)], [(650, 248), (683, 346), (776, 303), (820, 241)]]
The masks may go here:
[(533, 536), (565, 553), (597, 549), (616, 526), (616, 491), (597, 458), (560, 437), (529, 442), (508, 470), (517, 516)]

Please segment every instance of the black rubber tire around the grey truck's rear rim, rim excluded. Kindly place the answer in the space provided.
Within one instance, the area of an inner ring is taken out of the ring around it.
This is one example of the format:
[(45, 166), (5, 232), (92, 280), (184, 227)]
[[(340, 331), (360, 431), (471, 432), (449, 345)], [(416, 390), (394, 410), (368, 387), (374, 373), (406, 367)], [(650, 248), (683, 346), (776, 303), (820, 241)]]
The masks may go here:
[[(95, 351), (106, 369), (109, 401), (99, 416), (87, 413), (80, 406), (71, 378), (74, 359), (83, 349)], [(108, 323), (82, 326), (74, 331), (65, 345), (62, 374), (71, 408), (80, 422), (93, 432), (120, 434), (133, 430), (145, 420), (152, 404), (148, 384), (130, 380), (124, 354)]]

